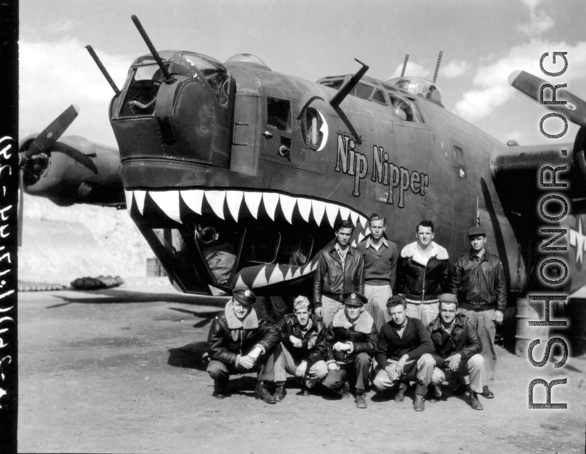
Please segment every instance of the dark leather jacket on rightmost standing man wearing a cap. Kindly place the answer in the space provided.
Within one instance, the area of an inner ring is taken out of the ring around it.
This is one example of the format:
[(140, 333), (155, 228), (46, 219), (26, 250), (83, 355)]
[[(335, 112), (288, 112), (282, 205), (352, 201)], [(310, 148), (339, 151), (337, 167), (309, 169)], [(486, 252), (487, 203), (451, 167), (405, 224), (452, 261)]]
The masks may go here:
[(479, 259), (472, 249), (456, 260), (452, 293), (460, 307), (469, 310), (506, 309), (506, 281), (500, 258), (488, 253)]

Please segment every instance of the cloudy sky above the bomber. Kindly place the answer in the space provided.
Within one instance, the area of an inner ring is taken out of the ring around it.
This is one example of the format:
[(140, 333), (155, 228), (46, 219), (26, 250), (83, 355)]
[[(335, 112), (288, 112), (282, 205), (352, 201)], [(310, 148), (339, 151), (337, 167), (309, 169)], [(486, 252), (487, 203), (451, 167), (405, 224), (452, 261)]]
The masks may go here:
[[(540, 134), (547, 111), (509, 86), (522, 69), (586, 99), (586, 17), (583, 0), (21, 0), (19, 38), (19, 136), (39, 132), (72, 103), (80, 116), (65, 135), (116, 146), (108, 118), (109, 84), (84, 46), (91, 44), (121, 89), (133, 60), (149, 53), (131, 21), (137, 15), (159, 50), (210, 55), (221, 62), (253, 53), (273, 71), (315, 81), (354, 73), (357, 58), (367, 75), (432, 78), (448, 111), (502, 142), (553, 143)], [(567, 52), (559, 71), (551, 55)], [(550, 134), (562, 122), (544, 125)], [(570, 125), (558, 141), (572, 142)]]

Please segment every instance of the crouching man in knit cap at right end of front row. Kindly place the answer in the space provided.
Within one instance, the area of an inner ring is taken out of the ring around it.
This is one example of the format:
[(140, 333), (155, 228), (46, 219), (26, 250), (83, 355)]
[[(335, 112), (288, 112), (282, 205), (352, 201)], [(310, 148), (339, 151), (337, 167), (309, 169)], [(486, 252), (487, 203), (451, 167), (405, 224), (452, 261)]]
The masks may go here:
[(428, 325), (435, 352), (436, 367), (432, 375), (433, 396), (430, 402), (441, 397), (441, 383), (452, 376), (470, 376), (468, 402), (475, 410), (482, 410), (477, 392), (482, 393), (484, 358), (482, 343), (475, 327), (464, 314), (457, 314), (458, 300), (451, 293), (439, 296), (439, 316)]

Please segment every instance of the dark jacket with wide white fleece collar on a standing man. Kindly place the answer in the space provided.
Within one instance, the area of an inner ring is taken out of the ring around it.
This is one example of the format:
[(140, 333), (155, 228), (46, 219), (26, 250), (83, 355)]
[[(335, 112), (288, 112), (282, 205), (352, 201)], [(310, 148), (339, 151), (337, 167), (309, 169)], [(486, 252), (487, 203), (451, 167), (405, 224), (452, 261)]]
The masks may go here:
[(439, 244), (430, 244), (432, 256), (427, 264), (419, 255), (417, 242), (408, 244), (401, 251), (397, 264), (397, 291), (405, 293), (408, 300), (437, 300), (441, 293), (450, 293), (450, 262), (448, 251)]

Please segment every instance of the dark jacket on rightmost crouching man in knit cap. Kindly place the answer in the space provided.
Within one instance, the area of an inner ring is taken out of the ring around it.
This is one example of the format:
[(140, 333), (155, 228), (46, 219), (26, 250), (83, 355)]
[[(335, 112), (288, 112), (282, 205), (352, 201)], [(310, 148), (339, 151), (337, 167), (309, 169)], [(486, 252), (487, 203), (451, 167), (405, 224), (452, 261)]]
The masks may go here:
[(435, 352), (432, 356), (441, 367), (443, 360), (454, 354), (461, 356), (461, 361), (468, 361), (475, 354), (482, 352), (482, 342), (478, 337), (475, 327), (468, 317), (457, 314), (454, 319), (452, 332), (449, 334), (441, 328), (441, 316), (437, 316), (428, 325)]

